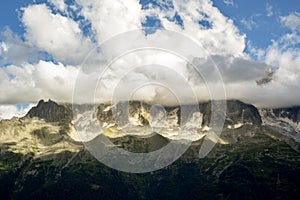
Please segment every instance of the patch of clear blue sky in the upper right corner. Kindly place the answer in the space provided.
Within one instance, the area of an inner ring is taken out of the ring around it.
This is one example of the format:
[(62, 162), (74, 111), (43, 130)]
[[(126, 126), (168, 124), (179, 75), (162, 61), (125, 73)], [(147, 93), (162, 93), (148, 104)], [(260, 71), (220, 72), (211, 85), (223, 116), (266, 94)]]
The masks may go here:
[[(223, 0), (213, 2), (225, 16), (233, 19), (235, 25), (259, 48), (267, 47), (272, 39), (276, 40), (289, 31), (280, 24), (280, 16), (300, 12), (298, 0), (234, 0), (233, 5), (226, 5)], [(268, 6), (272, 12), (271, 16), (268, 16)], [(250, 23), (250, 30), (242, 20)]]

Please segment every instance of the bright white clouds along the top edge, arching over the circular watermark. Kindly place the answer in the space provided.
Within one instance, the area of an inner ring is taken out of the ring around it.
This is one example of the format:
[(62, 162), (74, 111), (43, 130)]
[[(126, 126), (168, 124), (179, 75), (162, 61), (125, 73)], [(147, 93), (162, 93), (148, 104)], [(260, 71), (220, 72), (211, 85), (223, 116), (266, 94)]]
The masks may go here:
[[(83, 5), (82, 15), (85, 16), (96, 31), (98, 43), (115, 35), (142, 28), (146, 16), (156, 16), (162, 26), (169, 30), (180, 31), (188, 37), (201, 43), (209, 53), (242, 55), (245, 48), (245, 36), (239, 33), (233, 21), (226, 18), (209, 0), (203, 1), (173, 1), (174, 10), (150, 7), (142, 10), (138, 1), (129, 0), (126, 4), (117, 0), (78, 1)], [(170, 2), (158, 2), (169, 5)], [(184, 29), (170, 22), (174, 14), (182, 18)], [(211, 28), (201, 28), (199, 21), (211, 24)]]

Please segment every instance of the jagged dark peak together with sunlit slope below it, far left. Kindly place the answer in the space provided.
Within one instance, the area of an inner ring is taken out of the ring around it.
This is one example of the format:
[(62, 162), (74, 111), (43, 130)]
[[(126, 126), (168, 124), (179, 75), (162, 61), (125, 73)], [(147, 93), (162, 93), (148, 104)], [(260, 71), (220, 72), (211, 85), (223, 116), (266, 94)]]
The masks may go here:
[(41, 100), (25, 117), (0, 121), (0, 144), (11, 152), (35, 157), (78, 152), (81, 139), (71, 120), (70, 105)]

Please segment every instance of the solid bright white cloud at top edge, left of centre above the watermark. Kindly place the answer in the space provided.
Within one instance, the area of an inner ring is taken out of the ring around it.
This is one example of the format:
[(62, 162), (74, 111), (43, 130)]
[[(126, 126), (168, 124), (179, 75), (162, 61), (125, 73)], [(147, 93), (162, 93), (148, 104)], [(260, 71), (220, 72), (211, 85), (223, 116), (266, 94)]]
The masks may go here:
[(96, 31), (101, 44), (123, 32), (142, 28), (141, 5), (136, 0), (77, 0), (83, 6), (82, 15)]

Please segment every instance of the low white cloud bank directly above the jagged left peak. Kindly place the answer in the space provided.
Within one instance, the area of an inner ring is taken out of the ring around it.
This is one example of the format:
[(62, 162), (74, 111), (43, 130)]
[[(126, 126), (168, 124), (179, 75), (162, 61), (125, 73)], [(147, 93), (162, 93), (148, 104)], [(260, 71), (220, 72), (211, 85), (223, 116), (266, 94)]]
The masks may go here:
[(70, 102), (77, 68), (40, 61), (0, 68), (0, 102), (14, 104), (52, 98)]

